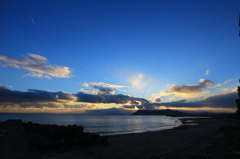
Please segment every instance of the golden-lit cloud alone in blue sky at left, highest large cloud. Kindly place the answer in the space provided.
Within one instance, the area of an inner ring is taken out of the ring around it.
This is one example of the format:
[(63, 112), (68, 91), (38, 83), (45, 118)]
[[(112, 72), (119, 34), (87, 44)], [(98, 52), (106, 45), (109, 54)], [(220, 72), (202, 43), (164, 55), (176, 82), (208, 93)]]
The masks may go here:
[(49, 65), (48, 60), (40, 55), (28, 53), (29, 57), (16, 59), (0, 56), (0, 65), (3, 67), (23, 68), (31, 71), (23, 76), (51, 79), (52, 77), (70, 78), (71, 70), (69, 67), (59, 65)]

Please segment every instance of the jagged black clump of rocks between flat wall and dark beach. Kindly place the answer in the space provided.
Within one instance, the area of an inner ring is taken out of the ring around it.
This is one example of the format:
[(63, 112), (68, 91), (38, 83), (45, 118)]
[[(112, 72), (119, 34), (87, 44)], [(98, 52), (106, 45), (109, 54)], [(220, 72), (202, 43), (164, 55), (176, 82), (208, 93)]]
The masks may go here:
[(40, 153), (57, 150), (79, 149), (93, 145), (108, 145), (107, 137), (83, 132), (82, 126), (45, 125), (23, 123), (30, 147), (36, 147)]

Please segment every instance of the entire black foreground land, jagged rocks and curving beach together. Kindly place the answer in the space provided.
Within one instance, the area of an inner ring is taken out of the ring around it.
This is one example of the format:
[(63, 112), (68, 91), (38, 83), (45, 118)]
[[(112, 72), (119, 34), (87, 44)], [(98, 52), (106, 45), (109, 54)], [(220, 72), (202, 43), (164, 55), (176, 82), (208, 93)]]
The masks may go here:
[[(109, 144), (102, 146), (99, 135), (86, 133), (84, 140), (76, 140), (82, 134), (81, 126), (24, 125), (20, 120), (8, 120), (0, 125), (1, 134), (5, 135), (0, 137), (0, 156), (1, 159), (240, 157), (239, 120), (228, 115), (213, 115), (209, 118), (183, 118), (181, 121), (181, 126), (170, 130), (112, 135), (108, 137)], [(68, 142), (63, 144), (64, 140)], [(100, 144), (96, 144), (98, 142)]]

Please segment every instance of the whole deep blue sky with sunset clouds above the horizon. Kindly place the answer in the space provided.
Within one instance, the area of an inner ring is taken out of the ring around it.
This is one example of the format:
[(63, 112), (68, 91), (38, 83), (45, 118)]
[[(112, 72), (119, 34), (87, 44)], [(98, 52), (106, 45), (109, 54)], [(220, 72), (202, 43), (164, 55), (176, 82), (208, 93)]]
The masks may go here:
[(0, 112), (235, 112), (239, 0), (0, 0)]

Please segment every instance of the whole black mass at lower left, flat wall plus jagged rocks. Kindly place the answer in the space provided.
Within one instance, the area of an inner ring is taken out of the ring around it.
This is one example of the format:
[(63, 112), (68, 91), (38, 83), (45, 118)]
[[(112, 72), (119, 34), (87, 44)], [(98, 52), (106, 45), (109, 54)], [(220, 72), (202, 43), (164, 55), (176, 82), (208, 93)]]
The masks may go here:
[(0, 124), (1, 159), (38, 159), (40, 154), (108, 145), (107, 137), (83, 132), (82, 126), (46, 125), (7, 120)]

